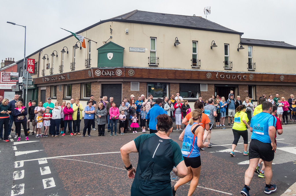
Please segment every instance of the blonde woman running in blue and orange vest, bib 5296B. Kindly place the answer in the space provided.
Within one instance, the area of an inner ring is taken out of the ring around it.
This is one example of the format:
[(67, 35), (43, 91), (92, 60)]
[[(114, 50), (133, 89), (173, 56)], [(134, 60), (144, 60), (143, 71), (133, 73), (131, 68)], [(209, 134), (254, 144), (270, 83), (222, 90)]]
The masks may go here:
[(202, 120), (202, 110), (193, 110), (191, 115), (192, 117), (189, 119), (189, 125), (186, 126), (185, 130), (179, 137), (179, 140), (183, 142), (181, 151), (188, 174), (186, 177), (179, 179), (172, 187), (173, 196), (181, 185), (186, 184), (189, 181), (191, 182), (188, 195), (193, 195), (200, 178), (200, 148), (208, 147), (207, 142), (202, 143), (204, 129), (199, 125)]

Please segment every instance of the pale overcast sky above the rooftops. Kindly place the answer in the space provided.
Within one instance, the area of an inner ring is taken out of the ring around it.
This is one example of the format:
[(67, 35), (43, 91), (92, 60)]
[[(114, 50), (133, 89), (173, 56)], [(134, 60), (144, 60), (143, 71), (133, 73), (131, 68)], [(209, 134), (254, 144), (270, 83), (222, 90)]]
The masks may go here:
[(284, 41), (296, 46), (295, 0), (0, 0), (0, 61), (24, 57), (46, 45), (78, 32), (100, 20), (135, 9), (148, 12), (201, 16), (211, 6), (207, 19), (232, 30), (243, 38)]

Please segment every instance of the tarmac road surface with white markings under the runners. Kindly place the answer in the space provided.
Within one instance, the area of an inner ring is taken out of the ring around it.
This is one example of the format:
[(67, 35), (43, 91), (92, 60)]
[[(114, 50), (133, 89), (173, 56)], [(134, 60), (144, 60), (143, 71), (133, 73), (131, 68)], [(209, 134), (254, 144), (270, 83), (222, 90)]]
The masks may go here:
[[(81, 122), (82, 130), (83, 120)], [(277, 150), (273, 161), (272, 183), (277, 190), (272, 195), (295, 195), (296, 192), (296, 123), (283, 125), (284, 133), (277, 136)], [(170, 138), (181, 146), (175, 130)], [(182, 125), (183, 128), (183, 125)], [(140, 129), (138, 129), (140, 130)], [(82, 131), (81, 131), (82, 133)], [(117, 132), (118, 133), (118, 132)], [(130, 195), (133, 179), (128, 179), (120, 156), (120, 147), (140, 134), (98, 137), (91, 131), (91, 137), (80, 135), (36, 138), (24, 135), (20, 142), (0, 143), (1, 196), (43, 195), (43, 196), (95, 196)], [(250, 141), (251, 133), (249, 133)], [(240, 195), (244, 186), (244, 172), (248, 157), (243, 156), (243, 140), (240, 138), (235, 157), (229, 152), (233, 142), (231, 126), (214, 128), (210, 142), (213, 147), (201, 151), (202, 168), (199, 184), (193, 195)], [(136, 166), (138, 154), (131, 153), (131, 163)], [(172, 181), (172, 185), (175, 184)], [(250, 184), (250, 195), (266, 195), (264, 178), (254, 173)], [(189, 184), (179, 187), (176, 195), (187, 195)]]

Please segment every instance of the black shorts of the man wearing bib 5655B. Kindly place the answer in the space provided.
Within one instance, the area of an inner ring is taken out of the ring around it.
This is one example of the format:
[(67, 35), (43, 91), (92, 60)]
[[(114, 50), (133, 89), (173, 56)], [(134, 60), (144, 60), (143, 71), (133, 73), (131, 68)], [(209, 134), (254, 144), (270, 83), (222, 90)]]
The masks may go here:
[(274, 160), (274, 151), (271, 143), (264, 143), (252, 139), (249, 146), (249, 159), (261, 158), (263, 161)]

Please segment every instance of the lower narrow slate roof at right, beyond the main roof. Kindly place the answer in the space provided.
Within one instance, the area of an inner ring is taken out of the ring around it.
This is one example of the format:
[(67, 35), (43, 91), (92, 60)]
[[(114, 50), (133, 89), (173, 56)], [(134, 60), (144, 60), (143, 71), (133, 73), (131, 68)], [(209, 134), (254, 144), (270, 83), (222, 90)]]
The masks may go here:
[(256, 39), (241, 38), (241, 43), (247, 44), (247, 45), (258, 45), (258, 46), (267, 46), (267, 47), (276, 47), (276, 48), (296, 49), (296, 46), (291, 45), (291, 44), (287, 44), (282, 41), (256, 40)]

